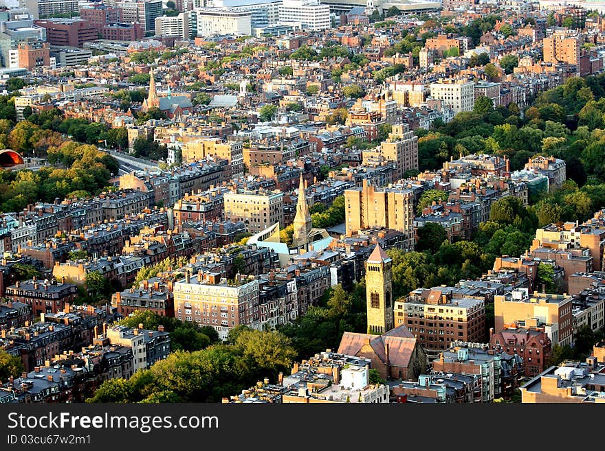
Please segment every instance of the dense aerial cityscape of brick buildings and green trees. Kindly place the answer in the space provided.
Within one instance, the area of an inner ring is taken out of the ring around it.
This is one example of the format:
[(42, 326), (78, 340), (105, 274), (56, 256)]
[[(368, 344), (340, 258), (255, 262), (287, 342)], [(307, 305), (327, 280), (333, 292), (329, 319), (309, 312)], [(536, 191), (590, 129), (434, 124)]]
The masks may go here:
[(605, 3), (7, 0), (0, 403), (605, 403)]

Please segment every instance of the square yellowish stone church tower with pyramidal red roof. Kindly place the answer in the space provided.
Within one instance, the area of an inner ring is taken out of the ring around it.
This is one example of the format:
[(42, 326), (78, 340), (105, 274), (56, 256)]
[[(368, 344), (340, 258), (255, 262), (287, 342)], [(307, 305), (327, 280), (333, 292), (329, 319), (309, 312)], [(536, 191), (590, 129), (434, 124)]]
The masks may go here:
[(392, 264), (393, 260), (386, 255), (380, 244), (376, 244), (366, 261), (366, 309), (369, 334), (384, 334), (395, 327), (391, 284)]

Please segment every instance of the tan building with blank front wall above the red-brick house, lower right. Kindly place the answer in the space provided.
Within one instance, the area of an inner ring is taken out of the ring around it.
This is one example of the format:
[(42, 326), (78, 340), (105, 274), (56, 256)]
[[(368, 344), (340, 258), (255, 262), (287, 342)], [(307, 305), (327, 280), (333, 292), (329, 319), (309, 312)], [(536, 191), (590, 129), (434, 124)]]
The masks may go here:
[(548, 294), (527, 288), (517, 288), (507, 294), (494, 296), (496, 330), (505, 324), (536, 319), (544, 323), (553, 345), (571, 345), (573, 342), (572, 297), (563, 294)]

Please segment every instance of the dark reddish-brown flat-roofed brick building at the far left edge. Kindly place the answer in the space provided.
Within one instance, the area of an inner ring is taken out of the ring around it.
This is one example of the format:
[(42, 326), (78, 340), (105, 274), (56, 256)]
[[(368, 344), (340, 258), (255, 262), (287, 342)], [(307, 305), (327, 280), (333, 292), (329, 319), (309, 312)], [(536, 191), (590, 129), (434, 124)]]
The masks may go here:
[(74, 284), (50, 281), (39, 281), (36, 277), (28, 281), (17, 281), (6, 288), (5, 296), (13, 302), (22, 302), (31, 306), (34, 316), (41, 313), (63, 312), (65, 304), (72, 304), (78, 294)]

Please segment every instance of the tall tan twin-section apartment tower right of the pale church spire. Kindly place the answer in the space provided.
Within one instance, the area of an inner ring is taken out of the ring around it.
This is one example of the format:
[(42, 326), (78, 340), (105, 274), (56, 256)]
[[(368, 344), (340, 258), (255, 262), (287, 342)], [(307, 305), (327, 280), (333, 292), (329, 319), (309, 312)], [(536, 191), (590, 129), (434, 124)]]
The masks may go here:
[(404, 233), (405, 247), (414, 248), (414, 192), (403, 187), (376, 189), (363, 181), (362, 187), (344, 191), (347, 234), (373, 227)]

